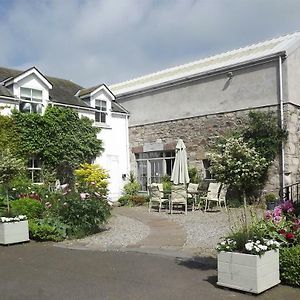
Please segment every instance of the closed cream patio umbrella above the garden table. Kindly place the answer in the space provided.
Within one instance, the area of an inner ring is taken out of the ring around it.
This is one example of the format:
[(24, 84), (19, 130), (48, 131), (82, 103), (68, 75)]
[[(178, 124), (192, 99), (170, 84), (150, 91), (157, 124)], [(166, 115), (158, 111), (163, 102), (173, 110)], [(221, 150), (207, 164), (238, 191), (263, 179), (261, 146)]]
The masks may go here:
[(175, 162), (173, 166), (171, 181), (174, 184), (187, 184), (190, 182), (187, 165), (186, 147), (182, 139), (179, 139), (175, 148)]

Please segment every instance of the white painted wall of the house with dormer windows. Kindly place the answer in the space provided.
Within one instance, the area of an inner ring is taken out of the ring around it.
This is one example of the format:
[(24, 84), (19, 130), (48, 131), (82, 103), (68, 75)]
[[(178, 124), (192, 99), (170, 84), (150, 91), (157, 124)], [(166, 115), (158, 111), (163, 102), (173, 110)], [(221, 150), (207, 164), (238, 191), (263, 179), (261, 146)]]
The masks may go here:
[[(44, 112), (49, 103), (49, 88), (35, 74), (30, 74), (14, 84), (13, 94), (18, 98), (20, 98), (20, 87), (42, 90)], [(107, 101), (106, 124), (94, 124), (94, 126), (101, 128), (97, 137), (102, 140), (105, 149), (102, 155), (96, 158), (95, 163), (108, 171), (110, 176), (108, 198), (111, 201), (117, 201), (122, 194), (124, 185), (122, 174), (127, 175), (129, 173), (128, 117), (124, 114), (111, 112), (113, 99), (105, 90), (92, 94), (90, 103), (92, 107), (95, 107), (95, 99)], [(0, 114), (9, 115), (14, 107), (18, 109), (18, 102), (0, 98), (1, 106), (5, 106), (5, 108), (0, 110)], [(95, 120), (94, 111), (77, 109), (77, 112), (80, 117), (84, 116)]]

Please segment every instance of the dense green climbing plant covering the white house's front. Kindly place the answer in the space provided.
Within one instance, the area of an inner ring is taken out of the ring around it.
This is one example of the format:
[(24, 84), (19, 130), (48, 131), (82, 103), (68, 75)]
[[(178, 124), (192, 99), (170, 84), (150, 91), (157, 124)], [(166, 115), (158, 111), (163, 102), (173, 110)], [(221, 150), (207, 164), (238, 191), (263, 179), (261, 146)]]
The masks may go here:
[(74, 169), (103, 150), (99, 128), (72, 109), (48, 106), (43, 116), (14, 112), (12, 118), (20, 140), (18, 153), (41, 158), (61, 182), (72, 182)]

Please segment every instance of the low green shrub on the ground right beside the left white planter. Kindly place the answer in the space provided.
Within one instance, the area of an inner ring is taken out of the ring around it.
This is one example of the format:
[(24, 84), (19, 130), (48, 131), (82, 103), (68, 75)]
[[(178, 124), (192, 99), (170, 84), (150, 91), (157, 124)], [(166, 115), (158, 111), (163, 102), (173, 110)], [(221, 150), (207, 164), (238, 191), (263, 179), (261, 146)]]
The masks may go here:
[(66, 230), (67, 226), (57, 219), (29, 220), (29, 236), (36, 241), (62, 241)]

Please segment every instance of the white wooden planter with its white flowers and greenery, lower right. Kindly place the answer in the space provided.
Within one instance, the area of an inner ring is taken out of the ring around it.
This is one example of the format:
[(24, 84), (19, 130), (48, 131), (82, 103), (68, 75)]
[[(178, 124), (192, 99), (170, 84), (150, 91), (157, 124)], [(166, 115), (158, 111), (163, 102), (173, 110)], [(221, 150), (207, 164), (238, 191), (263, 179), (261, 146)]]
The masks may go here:
[(243, 228), (217, 245), (218, 285), (259, 294), (280, 283), (280, 243), (256, 233)]

